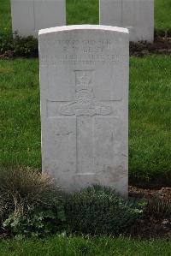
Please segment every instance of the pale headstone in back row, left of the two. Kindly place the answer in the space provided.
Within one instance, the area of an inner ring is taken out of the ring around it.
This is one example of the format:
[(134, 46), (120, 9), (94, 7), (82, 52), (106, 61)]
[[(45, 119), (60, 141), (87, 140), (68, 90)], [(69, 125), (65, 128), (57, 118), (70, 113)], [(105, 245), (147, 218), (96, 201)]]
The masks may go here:
[(38, 30), (66, 25), (66, 0), (11, 0), (13, 33), (38, 38)]

